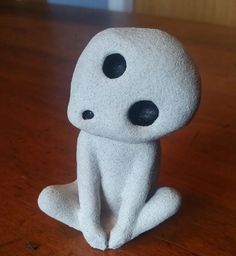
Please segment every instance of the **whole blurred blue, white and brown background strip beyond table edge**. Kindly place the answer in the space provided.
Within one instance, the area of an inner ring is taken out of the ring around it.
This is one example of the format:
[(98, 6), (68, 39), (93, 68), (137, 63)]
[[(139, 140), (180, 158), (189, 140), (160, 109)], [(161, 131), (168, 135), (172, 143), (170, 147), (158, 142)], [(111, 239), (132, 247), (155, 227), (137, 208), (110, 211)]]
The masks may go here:
[[(23, 0), (21, 0), (23, 1)], [(236, 0), (39, 0), (236, 27)]]

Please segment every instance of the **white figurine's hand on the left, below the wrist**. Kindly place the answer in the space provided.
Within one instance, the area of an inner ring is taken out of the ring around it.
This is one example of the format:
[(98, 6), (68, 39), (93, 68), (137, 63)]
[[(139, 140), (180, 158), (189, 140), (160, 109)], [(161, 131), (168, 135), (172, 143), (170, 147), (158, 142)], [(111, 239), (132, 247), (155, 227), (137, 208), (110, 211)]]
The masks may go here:
[(86, 241), (93, 248), (100, 250), (105, 250), (107, 248), (107, 237), (102, 228), (88, 225), (86, 228), (83, 228), (82, 233)]

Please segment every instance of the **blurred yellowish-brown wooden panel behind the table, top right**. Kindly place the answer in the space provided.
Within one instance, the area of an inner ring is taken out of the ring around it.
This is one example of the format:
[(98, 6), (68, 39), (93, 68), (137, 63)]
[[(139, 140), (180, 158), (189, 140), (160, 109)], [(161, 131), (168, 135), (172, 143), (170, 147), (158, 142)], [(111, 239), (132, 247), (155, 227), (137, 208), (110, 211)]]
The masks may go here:
[(236, 27), (235, 0), (134, 0), (134, 12)]

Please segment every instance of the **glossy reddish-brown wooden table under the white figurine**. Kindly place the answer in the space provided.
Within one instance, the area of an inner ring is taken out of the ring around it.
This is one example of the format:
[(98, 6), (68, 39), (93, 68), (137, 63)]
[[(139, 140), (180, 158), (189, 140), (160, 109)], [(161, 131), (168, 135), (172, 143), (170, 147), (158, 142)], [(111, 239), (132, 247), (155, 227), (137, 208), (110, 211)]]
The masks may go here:
[[(180, 212), (115, 251), (43, 214), (37, 197), (75, 179), (78, 131), (66, 108), (74, 65), (110, 26), (166, 30), (199, 66), (202, 102), (185, 129), (162, 139), (161, 185)], [(0, 255), (236, 255), (236, 29), (21, 1), (0, 4)]]

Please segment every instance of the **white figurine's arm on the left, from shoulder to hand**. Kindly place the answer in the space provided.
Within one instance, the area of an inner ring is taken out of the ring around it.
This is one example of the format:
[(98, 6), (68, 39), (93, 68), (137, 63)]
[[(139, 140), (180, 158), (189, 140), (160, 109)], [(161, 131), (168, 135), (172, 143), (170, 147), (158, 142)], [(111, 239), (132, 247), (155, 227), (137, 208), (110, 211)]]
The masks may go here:
[(81, 132), (77, 145), (79, 223), (88, 243), (104, 250), (107, 239), (100, 225), (100, 173), (96, 155), (87, 136)]

